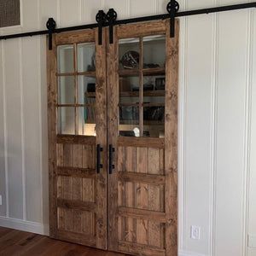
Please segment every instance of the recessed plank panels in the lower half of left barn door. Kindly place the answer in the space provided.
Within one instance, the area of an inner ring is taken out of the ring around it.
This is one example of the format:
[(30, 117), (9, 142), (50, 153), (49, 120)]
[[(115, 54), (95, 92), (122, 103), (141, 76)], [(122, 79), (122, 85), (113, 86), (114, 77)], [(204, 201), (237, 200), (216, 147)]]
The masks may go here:
[(95, 150), (94, 144), (57, 144), (57, 168), (70, 170), (57, 176), (57, 211), (59, 230), (96, 241)]

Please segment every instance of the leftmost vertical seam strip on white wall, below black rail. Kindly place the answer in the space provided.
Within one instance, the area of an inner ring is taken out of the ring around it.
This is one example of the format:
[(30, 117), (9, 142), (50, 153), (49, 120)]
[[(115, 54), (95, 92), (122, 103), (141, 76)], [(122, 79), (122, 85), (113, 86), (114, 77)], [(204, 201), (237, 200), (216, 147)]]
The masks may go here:
[(3, 72), (3, 133), (4, 133), (4, 171), (5, 171), (5, 204), (6, 204), (6, 217), (9, 218), (9, 166), (8, 166), (8, 145), (7, 145), (7, 120), (6, 120), (6, 78), (5, 78), (5, 54), (4, 42), (1, 42), (2, 49), (2, 72)]

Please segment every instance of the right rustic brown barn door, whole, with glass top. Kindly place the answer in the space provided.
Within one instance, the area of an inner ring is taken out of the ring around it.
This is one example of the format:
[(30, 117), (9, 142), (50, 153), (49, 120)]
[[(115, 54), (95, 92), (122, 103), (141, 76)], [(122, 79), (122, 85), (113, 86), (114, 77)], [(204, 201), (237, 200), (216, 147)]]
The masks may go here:
[(178, 21), (114, 27), (108, 44), (108, 247), (177, 256)]

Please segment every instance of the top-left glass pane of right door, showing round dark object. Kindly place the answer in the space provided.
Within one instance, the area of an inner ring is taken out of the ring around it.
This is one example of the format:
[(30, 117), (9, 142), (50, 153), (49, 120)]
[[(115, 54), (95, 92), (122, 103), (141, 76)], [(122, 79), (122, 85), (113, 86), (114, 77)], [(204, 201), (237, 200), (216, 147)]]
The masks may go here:
[(139, 67), (139, 38), (119, 40), (119, 68), (133, 69)]

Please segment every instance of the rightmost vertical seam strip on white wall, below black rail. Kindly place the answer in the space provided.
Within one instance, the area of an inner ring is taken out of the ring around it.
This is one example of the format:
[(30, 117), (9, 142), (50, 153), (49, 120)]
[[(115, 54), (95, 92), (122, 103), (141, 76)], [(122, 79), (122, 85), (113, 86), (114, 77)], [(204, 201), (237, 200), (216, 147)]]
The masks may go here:
[(242, 251), (247, 255), (247, 230), (249, 208), (249, 177), (250, 177), (250, 152), (251, 152), (251, 120), (252, 120), (252, 86), (253, 86), (253, 10), (247, 11), (247, 57), (246, 57), (246, 99), (245, 99), (245, 133), (244, 133), (244, 177), (243, 177), (243, 210), (242, 210)]

